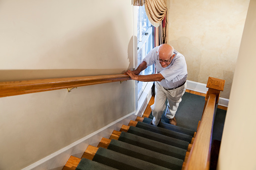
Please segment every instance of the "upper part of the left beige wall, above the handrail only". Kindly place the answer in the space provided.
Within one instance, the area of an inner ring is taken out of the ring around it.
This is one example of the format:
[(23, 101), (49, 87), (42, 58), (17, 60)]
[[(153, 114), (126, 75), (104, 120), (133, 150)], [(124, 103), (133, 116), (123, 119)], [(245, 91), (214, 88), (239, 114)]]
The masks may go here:
[(0, 81), (32, 79), (15, 76), (27, 70), (49, 78), (120, 74), (133, 67), (128, 0), (1, 1), (0, 15)]

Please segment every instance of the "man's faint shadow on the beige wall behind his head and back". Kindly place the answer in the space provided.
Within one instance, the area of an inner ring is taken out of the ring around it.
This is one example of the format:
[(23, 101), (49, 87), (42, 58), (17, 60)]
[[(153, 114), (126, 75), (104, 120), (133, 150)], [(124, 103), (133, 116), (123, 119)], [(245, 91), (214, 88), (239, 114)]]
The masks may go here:
[(169, 41), (169, 44), (184, 55), (188, 68), (188, 80), (199, 82), (201, 51), (193, 45), (188, 37), (180, 37), (178, 40)]

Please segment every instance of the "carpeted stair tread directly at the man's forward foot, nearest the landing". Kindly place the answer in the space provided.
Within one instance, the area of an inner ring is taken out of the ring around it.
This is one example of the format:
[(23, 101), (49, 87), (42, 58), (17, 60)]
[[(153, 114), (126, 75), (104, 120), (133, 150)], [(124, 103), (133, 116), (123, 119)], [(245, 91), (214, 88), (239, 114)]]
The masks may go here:
[[(144, 123), (150, 123), (151, 121), (152, 121), (151, 118), (145, 117), (143, 119)], [(185, 127), (181, 127), (181, 126), (175, 126), (175, 125), (168, 124), (168, 123), (163, 123), (163, 122), (159, 122), (158, 127), (162, 127), (162, 128), (165, 128), (165, 129), (169, 129), (169, 130), (177, 131), (177, 132), (180, 132), (180, 133), (188, 134), (190, 136), (194, 136), (194, 133), (195, 133), (194, 130), (191, 130), (191, 129), (188, 129), (188, 128), (185, 128)]]

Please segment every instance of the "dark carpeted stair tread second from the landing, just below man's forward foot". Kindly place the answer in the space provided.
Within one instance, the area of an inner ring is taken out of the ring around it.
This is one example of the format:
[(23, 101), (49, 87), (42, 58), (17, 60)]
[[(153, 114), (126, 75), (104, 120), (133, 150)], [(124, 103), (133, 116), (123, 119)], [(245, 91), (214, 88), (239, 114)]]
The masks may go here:
[(180, 132), (177, 132), (177, 131), (165, 129), (165, 128), (162, 128), (162, 127), (150, 125), (148, 123), (143, 123), (143, 122), (138, 122), (136, 127), (144, 129), (144, 130), (148, 130), (148, 131), (151, 131), (151, 132), (155, 132), (155, 133), (158, 133), (158, 134), (162, 134), (162, 135), (165, 135), (165, 136), (173, 137), (173, 138), (176, 138), (176, 139), (181, 139), (181, 140), (187, 141), (189, 143), (191, 142), (191, 140), (193, 138), (193, 136), (188, 135), (188, 134), (180, 133)]

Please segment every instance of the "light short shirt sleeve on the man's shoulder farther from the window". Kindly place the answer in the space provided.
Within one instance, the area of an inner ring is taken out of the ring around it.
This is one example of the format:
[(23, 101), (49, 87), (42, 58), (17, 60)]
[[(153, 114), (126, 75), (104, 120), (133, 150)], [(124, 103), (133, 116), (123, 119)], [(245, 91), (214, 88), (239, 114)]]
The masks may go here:
[(167, 80), (172, 81), (181, 73), (183, 73), (186, 67), (186, 62), (182, 58), (178, 58), (174, 61), (173, 65), (160, 72), (160, 74)]

